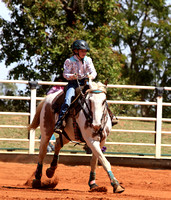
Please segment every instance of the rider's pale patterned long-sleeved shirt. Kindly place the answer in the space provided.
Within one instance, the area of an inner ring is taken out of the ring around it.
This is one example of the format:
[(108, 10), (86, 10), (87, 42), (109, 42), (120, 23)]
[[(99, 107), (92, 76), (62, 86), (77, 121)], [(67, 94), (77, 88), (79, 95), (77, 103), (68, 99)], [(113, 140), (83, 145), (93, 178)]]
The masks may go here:
[(66, 59), (64, 63), (63, 76), (67, 80), (75, 80), (74, 74), (78, 74), (78, 79), (83, 79), (87, 74), (91, 74), (93, 79), (96, 78), (97, 72), (93, 65), (92, 59), (85, 56), (83, 62), (76, 55)]

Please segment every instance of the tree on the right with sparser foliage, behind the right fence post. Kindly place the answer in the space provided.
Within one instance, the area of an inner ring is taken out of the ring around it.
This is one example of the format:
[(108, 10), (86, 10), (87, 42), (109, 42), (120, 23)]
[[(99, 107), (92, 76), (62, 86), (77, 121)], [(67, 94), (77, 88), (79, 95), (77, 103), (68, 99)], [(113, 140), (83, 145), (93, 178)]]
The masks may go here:
[[(128, 83), (132, 85), (171, 87), (170, 7), (165, 0), (118, 0), (118, 3), (120, 12), (116, 16), (118, 26), (113, 27), (113, 46), (119, 47), (121, 54), (125, 48), (129, 51), (123, 76), (129, 76)], [(154, 92), (140, 93), (142, 101), (155, 98)], [(165, 92), (164, 101), (170, 100), (171, 96)], [(141, 111), (143, 116), (154, 115), (151, 106), (142, 106)], [(169, 111), (170, 108), (167, 114)]]

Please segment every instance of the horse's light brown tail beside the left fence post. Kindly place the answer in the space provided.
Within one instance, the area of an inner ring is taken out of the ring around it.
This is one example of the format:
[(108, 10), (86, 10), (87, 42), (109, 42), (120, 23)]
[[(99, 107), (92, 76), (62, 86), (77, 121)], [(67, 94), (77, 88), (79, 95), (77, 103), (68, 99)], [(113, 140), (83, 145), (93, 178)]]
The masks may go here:
[(28, 130), (36, 129), (39, 126), (39, 124), (40, 124), (40, 112), (42, 110), (44, 102), (45, 102), (45, 99), (43, 99), (39, 103), (39, 105), (37, 106), (37, 108), (36, 108), (36, 114), (35, 114), (35, 116), (33, 118), (32, 123), (28, 126)]

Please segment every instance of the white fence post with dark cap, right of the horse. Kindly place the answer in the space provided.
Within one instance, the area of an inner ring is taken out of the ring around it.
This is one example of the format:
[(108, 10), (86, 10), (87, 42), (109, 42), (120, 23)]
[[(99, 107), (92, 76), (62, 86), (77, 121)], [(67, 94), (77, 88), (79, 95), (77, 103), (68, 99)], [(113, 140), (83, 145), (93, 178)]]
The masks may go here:
[(156, 158), (161, 157), (161, 131), (162, 131), (162, 102), (163, 102), (163, 87), (156, 87), (157, 92), (157, 112), (156, 112)]

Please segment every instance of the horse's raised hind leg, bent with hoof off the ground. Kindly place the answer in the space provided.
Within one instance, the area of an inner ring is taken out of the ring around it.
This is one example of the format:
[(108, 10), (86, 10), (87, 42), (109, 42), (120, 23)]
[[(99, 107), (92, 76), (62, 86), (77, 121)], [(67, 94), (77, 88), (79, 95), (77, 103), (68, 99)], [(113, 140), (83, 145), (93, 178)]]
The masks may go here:
[(51, 162), (50, 167), (46, 170), (46, 176), (48, 178), (52, 178), (55, 170), (58, 166), (58, 160), (59, 160), (59, 151), (61, 150), (61, 148), (63, 147), (63, 145), (67, 144), (69, 142), (69, 140), (67, 140), (63, 135), (60, 135), (57, 139), (56, 139), (56, 143), (55, 143), (55, 153), (53, 156), (53, 160)]

